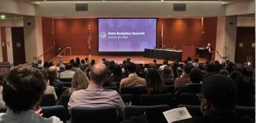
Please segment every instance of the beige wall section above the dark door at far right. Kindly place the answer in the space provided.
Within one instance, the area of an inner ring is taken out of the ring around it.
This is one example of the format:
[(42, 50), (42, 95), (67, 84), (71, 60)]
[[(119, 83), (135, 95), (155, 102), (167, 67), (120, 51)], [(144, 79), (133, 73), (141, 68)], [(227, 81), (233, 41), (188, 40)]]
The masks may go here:
[(255, 16), (237, 16), (237, 27), (255, 27)]

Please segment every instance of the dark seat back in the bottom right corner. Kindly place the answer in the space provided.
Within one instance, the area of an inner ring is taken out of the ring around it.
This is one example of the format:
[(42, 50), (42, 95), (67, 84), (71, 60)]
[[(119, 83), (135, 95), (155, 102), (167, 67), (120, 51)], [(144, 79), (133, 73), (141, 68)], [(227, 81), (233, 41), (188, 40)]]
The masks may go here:
[(236, 112), (240, 116), (247, 116), (248, 118), (255, 120), (255, 107), (236, 106)]

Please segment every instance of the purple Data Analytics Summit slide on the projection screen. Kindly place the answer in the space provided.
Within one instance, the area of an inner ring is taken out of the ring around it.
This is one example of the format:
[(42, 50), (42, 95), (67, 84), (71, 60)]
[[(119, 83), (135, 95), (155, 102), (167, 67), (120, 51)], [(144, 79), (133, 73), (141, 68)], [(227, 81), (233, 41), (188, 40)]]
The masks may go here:
[(156, 45), (157, 19), (98, 19), (98, 52), (143, 52)]

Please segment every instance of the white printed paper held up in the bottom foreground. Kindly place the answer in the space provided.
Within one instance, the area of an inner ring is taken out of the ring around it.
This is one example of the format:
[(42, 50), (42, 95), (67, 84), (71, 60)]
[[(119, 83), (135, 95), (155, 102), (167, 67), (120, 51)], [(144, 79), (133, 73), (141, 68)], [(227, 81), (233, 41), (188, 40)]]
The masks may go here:
[(163, 114), (165, 115), (165, 119), (168, 121), (168, 123), (192, 118), (186, 107), (179, 107), (172, 110), (167, 110), (163, 112)]

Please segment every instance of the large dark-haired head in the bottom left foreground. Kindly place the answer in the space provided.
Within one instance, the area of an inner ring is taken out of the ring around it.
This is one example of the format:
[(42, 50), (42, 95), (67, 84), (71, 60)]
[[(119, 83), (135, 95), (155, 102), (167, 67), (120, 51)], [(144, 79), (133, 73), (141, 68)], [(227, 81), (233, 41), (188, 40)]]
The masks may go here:
[(20, 65), (9, 72), (2, 97), (6, 107), (14, 113), (20, 113), (24, 110), (36, 110), (45, 89), (43, 75), (38, 69)]

